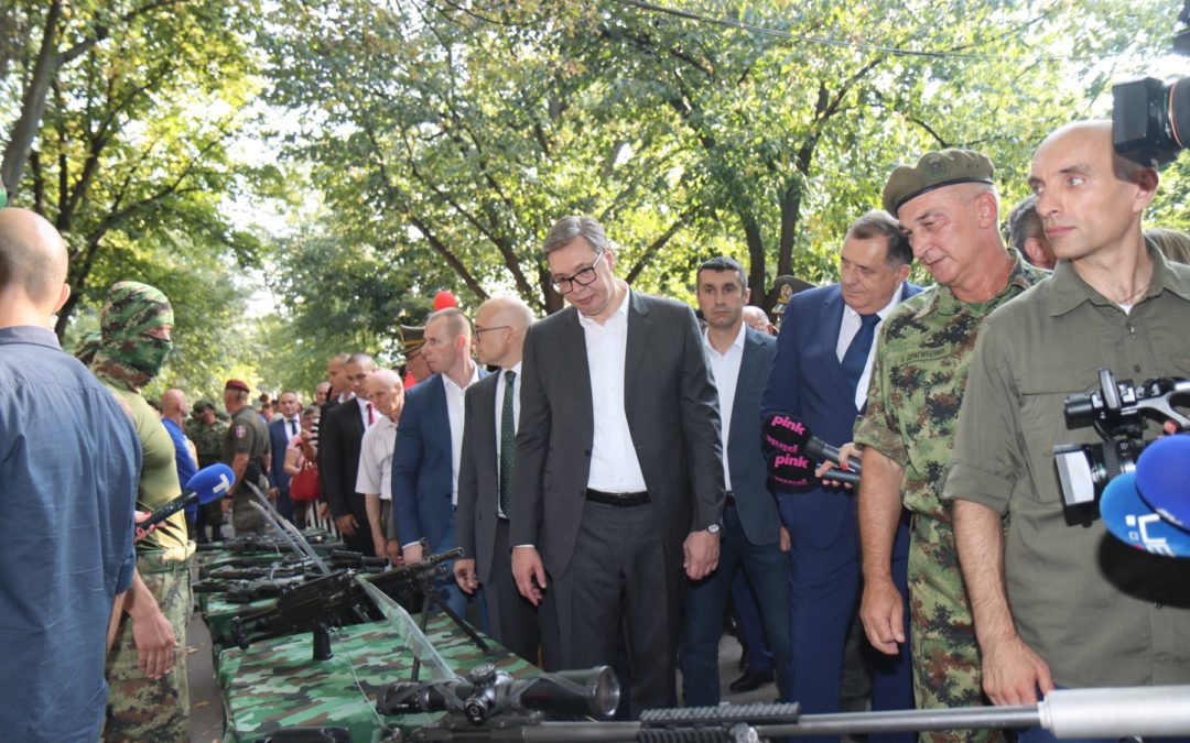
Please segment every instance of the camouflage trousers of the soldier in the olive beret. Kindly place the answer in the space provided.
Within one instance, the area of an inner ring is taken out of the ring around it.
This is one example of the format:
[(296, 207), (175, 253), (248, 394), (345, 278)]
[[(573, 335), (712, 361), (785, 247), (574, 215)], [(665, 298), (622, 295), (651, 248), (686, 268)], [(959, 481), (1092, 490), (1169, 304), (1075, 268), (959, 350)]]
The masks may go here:
[[(951, 524), (914, 514), (909, 541), (909, 647), (919, 709), (970, 707), (983, 697), (979, 647)], [(1001, 743), (998, 730), (922, 732), (921, 743)]]

